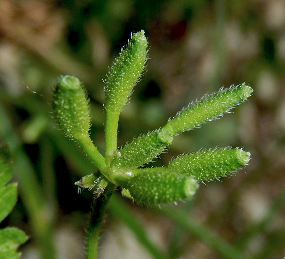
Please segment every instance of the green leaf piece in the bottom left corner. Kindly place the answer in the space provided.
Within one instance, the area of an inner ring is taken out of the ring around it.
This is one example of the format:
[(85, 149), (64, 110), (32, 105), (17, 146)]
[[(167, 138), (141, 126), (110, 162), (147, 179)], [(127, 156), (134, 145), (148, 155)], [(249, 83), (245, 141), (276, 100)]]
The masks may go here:
[(26, 234), (15, 227), (7, 227), (0, 230), (0, 258), (16, 259), (20, 258), (21, 253), (16, 252), (20, 244), (27, 241)]

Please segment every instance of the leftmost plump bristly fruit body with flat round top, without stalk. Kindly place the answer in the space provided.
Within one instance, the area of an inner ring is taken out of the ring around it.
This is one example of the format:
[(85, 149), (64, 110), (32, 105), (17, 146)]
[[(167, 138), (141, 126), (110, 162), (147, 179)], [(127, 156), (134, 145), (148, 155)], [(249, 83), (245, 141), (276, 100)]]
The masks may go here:
[(70, 139), (88, 135), (91, 124), (86, 90), (75, 76), (62, 76), (54, 88), (53, 117), (58, 128)]

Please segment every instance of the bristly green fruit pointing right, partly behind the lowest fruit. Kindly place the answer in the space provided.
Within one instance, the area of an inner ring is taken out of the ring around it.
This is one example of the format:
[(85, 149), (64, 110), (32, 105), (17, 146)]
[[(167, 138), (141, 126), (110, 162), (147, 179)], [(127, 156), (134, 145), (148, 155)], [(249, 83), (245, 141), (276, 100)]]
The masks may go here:
[(173, 159), (168, 170), (192, 175), (197, 181), (212, 181), (247, 165), (250, 153), (242, 149), (212, 149), (182, 155)]

